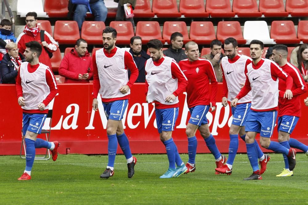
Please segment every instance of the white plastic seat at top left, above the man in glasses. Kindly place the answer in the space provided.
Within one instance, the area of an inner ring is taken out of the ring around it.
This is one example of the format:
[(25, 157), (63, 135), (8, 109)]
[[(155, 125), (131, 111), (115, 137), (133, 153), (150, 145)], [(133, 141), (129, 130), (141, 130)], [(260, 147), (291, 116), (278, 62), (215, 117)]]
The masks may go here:
[(17, 15), (26, 17), (30, 11), (35, 11), (38, 17), (47, 17), (42, 0), (17, 0)]

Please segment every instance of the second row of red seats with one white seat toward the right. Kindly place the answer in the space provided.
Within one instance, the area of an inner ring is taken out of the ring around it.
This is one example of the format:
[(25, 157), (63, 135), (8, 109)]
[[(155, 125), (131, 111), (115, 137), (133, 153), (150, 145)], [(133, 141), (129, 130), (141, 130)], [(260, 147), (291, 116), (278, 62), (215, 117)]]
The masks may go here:
[[(41, 29), (52, 33), (49, 21), (38, 21), (38, 25)], [(131, 22), (113, 21), (110, 22), (110, 26), (118, 32), (117, 44), (129, 44), (130, 38), (135, 35)], [(81, 38), (89, 44), (101, 44), (103, 29), (105, 29), (104, 22), (85, 21), (81, 30)], [(75, 44), (76, 40), (80, 38), (78, 25), (75, 21), (56, 21), (54, 30), (53, 36), (59, 44)], [(239, 44), (245, 44), (247, 40), (249, 43), (249, 40), (256, 38), (265, 44), (273, 44), (274, 41), (296, 44), (300, 41), (308, 42), (308, 21), (299, 22), (297, 34), (292, 21), (273, 21), (270, 34), (265, 21), (247, 21), (244, 25), (244, 35), (241, 25), (237, 21), (218, 22), (217, 35), (212, 22), (192, 22), (189, 35), (185, 22), (164, 22), (163, 34), (161, 34), (159, 23), (155, 21), (140, 21), (136, 26), (136, 36), (142, 37), (144, 43), (156, 38), (163, 43), (170, 44), (170, 36), (174, 32), (183, 34), (184, 43), (193, 40), (198, 44), (209, 44), (213, 39), (224, 42), (225, 38), (232, 36), (237, 39)]]

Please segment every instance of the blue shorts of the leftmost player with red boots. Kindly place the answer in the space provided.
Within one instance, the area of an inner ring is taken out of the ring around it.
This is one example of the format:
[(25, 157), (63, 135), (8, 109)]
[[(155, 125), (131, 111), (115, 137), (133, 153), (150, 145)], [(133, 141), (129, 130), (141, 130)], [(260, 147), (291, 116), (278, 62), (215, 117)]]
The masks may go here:
[(26, 135), (27, 130), (41, 134), (47, 114), (22, 114), (22, 134)]

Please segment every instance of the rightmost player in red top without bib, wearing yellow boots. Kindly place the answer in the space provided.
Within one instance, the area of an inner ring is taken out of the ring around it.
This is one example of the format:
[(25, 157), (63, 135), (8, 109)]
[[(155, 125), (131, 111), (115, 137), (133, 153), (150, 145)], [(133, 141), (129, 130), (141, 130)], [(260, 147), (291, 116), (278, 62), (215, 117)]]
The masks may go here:
[[(284, 98), (283, 91), (286, 89), (286, 81), (279, 79), (278, 89), (279, 98), (278, 98), (278, 142), (290, 149), (297, 148), (306, 152), (308, 154), (308, 146), (302, 144), (294, 138), (290, 138), (290, 134), (295, 128), (296, 123), (298, 122), (299, 117), (302, 115), (301, 112), (301, 101), (300, 95), (306, 93), (307, 86), (306, 83), (299, 72), (298, 68), (294, 65), (288, 63), (288, 47), (286, 45), (274, 45), (272, 60), (275, 61), (284, 71), (286, 71), (293, 78), (292, 85), (292, 99)], [(285, 161), (285, 168), (283, 171), (276, 176), (293, 176), (293, 171), (289, 169), (289, 162), (286, 155), (283, 155)]]

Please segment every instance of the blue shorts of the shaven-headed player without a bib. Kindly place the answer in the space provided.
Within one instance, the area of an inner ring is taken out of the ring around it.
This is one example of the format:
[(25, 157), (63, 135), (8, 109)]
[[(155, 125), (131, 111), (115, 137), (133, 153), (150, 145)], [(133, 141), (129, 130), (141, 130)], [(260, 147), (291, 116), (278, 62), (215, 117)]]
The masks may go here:
[(209, 108), (209, 105), (196, 105), (195, 107), (189, 108), (190, 119), (188, 122), (198, 126), (208, 124), (206, 113), (209, 112)]

